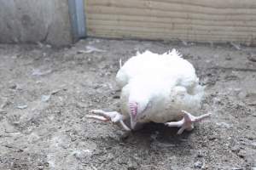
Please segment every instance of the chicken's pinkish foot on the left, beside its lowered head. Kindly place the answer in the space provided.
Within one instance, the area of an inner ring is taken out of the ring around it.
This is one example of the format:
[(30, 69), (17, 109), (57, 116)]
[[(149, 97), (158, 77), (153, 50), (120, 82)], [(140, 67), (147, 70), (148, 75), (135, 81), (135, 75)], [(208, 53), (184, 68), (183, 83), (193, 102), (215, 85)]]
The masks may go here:
[(92, 110), (90, 111), (90, 113), (97, 114), (100, 116), (86, 115), (87, 118), (96, 119), (103, 122), (108, 122), (108, 121), (115, 122), (115, 123), (119, 122), (121, 126), (125, 128), (126, 131), (131, 131), (131, 129), (125, 125), (125, 122), (124, 122), (125, 117), (119, 114), (119, 112), (117, 111), (108, 112), (108, 111), (102, 111), (102, 110)]

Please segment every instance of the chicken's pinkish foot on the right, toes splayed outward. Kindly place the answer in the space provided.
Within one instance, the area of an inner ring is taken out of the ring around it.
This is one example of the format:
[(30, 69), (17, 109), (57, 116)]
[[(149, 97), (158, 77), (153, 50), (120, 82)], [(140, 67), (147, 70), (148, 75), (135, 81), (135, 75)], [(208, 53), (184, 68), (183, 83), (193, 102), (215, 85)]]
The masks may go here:
[(180, 129), (177, 131), (177, 134), (183, 133), (183, 131), (186, 130), (192, 130), (194, 128), (193, 123), (194, 122), (201, 122), (201, 120), (209, 117), (212, 115), (212, 113), (207, 113), (205, 115), (201, 116), (193, 116), (187, 111), (182, 111), (184, 116), (181, 121), (178, 122), (166, 122), (166, 126), (168, 127), (180, 127)]

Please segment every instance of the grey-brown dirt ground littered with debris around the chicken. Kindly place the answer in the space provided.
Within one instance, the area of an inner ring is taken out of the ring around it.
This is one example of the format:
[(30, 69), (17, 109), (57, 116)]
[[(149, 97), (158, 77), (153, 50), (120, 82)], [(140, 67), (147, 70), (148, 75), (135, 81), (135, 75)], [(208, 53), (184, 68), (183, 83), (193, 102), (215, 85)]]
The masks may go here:
[[(162, 124), (125, 133), (84, 117), (119, 111), (120, 58), (172, 48), (207, 85), (200, 112), (211, 119), (177, 135)], [(58, 49), (2, 44), (0, 59), (0, 169), (256, 169), (256, 49), (87, 39)]]

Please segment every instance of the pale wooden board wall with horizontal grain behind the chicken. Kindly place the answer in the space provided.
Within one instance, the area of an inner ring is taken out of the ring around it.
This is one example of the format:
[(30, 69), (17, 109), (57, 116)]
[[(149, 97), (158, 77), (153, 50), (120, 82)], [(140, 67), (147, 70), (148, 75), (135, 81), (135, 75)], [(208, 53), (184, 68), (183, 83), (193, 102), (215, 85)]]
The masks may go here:
[(84, 0), (93, 37), (256, 44), (256, 0)]

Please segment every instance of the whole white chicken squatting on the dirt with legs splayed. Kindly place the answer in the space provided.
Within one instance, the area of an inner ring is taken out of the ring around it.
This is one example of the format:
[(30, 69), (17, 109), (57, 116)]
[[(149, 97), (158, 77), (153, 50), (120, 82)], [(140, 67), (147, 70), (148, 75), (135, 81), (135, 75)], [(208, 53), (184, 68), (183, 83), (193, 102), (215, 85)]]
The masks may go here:
[[(101, 121), (119, 122), (125, 130), (146, 122), (181, 127), (178, 134), (193, 129), (194, 122), (211, 115), (193, 116), (200, 107), (204, 88), (199, 85), (195, 68), (176, 49), (165, 54), (149, 51), (131, 57), (121, 66), (116, 81), (122, 88), (121, 114), (92, 110), (87, 115)], [(130, 123), (126, 123), (125, 121)], [(177, 121), (177, 122), (170, 122)]]

